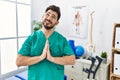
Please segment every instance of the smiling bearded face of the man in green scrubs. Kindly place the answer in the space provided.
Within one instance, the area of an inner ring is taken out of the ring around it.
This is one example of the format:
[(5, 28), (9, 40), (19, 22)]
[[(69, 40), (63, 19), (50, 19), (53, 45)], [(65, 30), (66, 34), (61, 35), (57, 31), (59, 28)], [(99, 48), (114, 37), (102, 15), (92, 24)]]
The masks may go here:
[(49, 30), (54, 28), (55, 25), (58, 24), (58, 20), (57, 20), (57, 13), (52, 11), (52, 10), (48, 10), (42, 17), (42, 23), (45, 27), (45, 29)]

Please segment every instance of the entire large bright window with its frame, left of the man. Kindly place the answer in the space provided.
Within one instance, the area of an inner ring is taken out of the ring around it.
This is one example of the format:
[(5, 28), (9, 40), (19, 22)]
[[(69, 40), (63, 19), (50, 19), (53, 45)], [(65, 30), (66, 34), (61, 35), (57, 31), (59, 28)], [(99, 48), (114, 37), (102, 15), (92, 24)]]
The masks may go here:
[(17, 52), (29, 34), (31, 0), (0, 1), (0, 79), (10, 77), (6, 75), (10, 72), (17, 72)]

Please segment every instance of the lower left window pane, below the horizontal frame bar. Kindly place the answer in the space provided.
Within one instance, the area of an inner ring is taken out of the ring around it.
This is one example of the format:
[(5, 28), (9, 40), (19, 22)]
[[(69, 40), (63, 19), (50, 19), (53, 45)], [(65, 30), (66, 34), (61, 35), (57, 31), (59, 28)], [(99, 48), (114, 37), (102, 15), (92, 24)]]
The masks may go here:
[(15, 58), (17, 53), (17, 40), (1, 40), (1, 74), (17, 69)]

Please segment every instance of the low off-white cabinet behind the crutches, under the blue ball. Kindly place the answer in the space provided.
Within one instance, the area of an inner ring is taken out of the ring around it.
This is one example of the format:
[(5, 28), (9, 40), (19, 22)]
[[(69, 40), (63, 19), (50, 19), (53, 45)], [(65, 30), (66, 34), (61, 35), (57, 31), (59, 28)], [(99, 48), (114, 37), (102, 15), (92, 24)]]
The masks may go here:
[[(65, 66), (65, 75), (67, 75), (67, 80), (87, 80), (88, 74), (83, 71), (83, 68), (89, 68), (91, 65), (90, 60), (77, 59), (75, 65)], [(97, 63), (94, 65), (93, 69), (96, 68)], [(96, 80), (109, 80), (108, 79), (109, 63), (101, 64), (97, 73)], [(92, 80), (93, 74), (90, 74), (90, 80)]]

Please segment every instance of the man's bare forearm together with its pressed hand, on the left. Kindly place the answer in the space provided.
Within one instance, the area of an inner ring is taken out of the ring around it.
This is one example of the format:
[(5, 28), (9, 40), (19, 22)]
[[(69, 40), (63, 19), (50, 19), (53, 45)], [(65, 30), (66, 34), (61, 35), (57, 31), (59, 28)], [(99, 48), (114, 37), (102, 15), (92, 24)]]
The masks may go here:
[[(46, 41), (46, 43), (47, 43), (47, 41)], [(47, 49), (48, 49), (48, 45), (45, 44), (43, 52), (40, 56), (30, 57), (30, 56), (23, 56), (23, 55), (18, 54), (17, 59), (16, 59), (16, 65), (18, 67), (20, 67), (20, 66), (30, 66), (30, 65), (33, 65), (33, 64), (36, 64), (36, 63), (42, 61), (43, 59), (46, 58)]]

